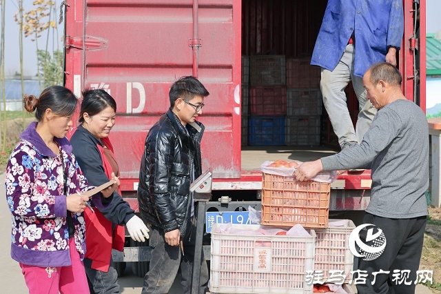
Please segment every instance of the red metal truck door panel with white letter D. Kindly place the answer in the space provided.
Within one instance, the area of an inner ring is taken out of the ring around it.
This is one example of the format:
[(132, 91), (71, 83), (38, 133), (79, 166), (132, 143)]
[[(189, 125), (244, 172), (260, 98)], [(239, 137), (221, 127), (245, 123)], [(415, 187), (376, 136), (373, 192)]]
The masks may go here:
[(103, 88), (116, 99), (110, 139), (123, 189), (134, 190), (127, 183), (138, 179), (147, 131), (170, 107), (170, 86), (192, 75), (194, 26), (202, 44), (198, 78), (210, 92), (200, 119), (203, 168), (218, 178), (240, 176), (240, 1), (200, 0), (195, 23), (192, 8), (189, 0), (68, 1), (66, 39), (74, 44), (65, 84), (76, 95)]

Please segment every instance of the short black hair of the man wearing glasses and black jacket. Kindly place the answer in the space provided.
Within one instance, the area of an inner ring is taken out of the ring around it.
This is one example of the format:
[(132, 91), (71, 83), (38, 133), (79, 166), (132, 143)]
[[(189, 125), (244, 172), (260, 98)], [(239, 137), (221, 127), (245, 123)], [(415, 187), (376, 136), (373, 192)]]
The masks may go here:
[(208, 95), (209, 92), (205, 89), (203, 84), (192, 76), (180, 77), (173, 83), (168, 94), (170, 97), (170, 106), (172, 108), (174, 107), (174, 102), (176, 102), (178, 98), (189, 101), (195, 96), (207, 97)]

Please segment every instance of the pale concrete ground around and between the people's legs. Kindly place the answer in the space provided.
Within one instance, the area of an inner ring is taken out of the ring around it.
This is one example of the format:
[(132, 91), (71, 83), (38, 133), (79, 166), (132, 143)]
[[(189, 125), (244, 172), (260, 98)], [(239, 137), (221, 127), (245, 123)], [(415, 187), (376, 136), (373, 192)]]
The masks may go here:
[[(5, 175), (0, 175), (0, 183), (5, 182)], [(0, 293), (29, 293), (25, 285), (23, 275), (19, 264), (10, 257), (10, 228), (11, 219), (8, 204), (6, 203), (5, 189), (0, 189)], [(123, 294), (139, 294), (143, 286), (143, 278), (133, 275), (130, 265), (125, 269), (125, 275), (119, 278), (121, 286), (121, 293)], [(353, 286), (355, 290), (355, 286)], [(169, 294), (182, 294), (181, 284), (176, 278)], [(431, 294), (433, 293), (426, 286), (420, 284), (416, 288), (417, 294)], [(82, 294), (82, 293), (79, 293)]]

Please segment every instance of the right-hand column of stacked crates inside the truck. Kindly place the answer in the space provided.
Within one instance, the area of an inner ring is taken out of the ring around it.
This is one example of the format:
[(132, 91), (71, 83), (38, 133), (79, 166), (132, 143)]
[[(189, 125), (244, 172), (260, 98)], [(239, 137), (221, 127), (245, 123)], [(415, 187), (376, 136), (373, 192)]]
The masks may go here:
[(309, 57), (286, 59), (286, 145), (320, 145), (320, 68), (310, 61)]

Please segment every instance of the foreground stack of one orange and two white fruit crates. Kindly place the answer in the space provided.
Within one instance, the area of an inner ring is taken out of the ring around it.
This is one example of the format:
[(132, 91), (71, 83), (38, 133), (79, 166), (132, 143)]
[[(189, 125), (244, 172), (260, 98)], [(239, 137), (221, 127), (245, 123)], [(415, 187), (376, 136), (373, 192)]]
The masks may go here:
[[(330, 183), (298, 182), (263, 171), (260, 225), (214, 224), (211, 231), (211, 293), (313, 293), (308, 273), (336, 284), (351, 280), (349, 219), (329, 219)], [(336, 222), (340, 222), (336, 226)], [(262, 235), (265, 228), (301, 224), (309, 236)], [(334, 272), (331, 272), (334, 271)], [(340, 277), (340, 280), (335, 280)], [(329, 281), (331, 282), (331, 281)], [(347, 293), (351, 287), (342, 284)]]

